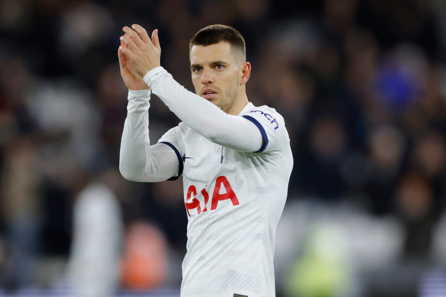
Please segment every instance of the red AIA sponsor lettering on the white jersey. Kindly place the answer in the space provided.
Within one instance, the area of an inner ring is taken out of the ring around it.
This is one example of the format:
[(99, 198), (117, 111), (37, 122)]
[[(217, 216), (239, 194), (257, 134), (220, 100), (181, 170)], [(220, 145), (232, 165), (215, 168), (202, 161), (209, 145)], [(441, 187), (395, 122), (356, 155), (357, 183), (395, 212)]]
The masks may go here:
[[(219, 194), (221, 187), (224, 187), (226, 190), (226, 193)], [(187, 215), (190, 216), (190, 210), (196, 208), (198, 215), (202, 212), (207, 212), (207, 204), (209, 202), (209, 193), (206, 191), (206, 186), (200, 191), (201, 195), (204, 197), (204, 206), (203, 208), (200, 205), (200, 201), (197, 199), (197, 188), (194, 185), (191, 185), (189, 189), (187, 189), (187, 195), (186, 195), (186, 211)], [(217, 208), (219, 201), (230, 199), (233, 206), (239, 205), (239, 199), (237, 199), (237, 196), (235, 195), (234, 191), (232, 190), (231, 184), (227, 180), (226, 176), (219, 176), (215, 180), (215, 187), (214, 191), (212, 192), (212, 198), (211, 198), (211, 210), (214, 210)]]

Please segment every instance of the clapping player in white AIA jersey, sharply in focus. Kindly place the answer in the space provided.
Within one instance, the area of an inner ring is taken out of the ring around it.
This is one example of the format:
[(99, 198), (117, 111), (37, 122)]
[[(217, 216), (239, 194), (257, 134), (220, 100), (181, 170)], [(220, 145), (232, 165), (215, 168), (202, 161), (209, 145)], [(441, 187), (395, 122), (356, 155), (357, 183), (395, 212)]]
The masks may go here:
[[(274, 234), (293, 157), (281, 115), (248, 102), (243, 37), (224, 25), (195, 34), (193, 94), (160, 67), (157, 30), (152, 39), (137, 24), (123, 31), (118, 57), (129, 93), (120, 172), (139, 182), (183, 176), (189, 222), (181, 296), (275, 296)], [(182, 120), (154, 145), (151, 92)]]

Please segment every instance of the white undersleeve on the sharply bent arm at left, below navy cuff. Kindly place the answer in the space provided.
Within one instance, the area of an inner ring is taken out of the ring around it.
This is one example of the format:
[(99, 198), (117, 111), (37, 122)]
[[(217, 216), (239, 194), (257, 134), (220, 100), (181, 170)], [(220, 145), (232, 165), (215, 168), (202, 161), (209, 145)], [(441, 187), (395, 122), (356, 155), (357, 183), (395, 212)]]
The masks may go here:
[(178, 174), (180, 166), (171, 147), (164, 143), (150, 145), (149, 99), (150, 90), (128, 91), (119, 171), (125, 179), (135, 182), (160, 182), (172, 178)]

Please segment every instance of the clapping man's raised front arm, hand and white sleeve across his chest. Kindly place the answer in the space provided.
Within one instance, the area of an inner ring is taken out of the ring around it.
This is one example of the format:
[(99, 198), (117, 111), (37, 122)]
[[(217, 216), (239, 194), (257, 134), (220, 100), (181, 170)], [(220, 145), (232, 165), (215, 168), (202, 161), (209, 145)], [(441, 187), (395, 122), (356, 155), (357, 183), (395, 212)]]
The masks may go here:
[(236, 151), (261, 151), (266, 139), (260, 123), (226, 114), (211, 102), (186, 90), (160, 67), (158, 31), (154, 30), (150, 39), (141, 26), (134, 24), (132, 28), (136, 32), (129, 27), (123, 28), (129, 36), (120, 37), (126, 44), (125, 47), (120, 46), (120, 50), (128, 55), (136, 73), (144, 77), (153, 93), (178, 118), (211, 142)]

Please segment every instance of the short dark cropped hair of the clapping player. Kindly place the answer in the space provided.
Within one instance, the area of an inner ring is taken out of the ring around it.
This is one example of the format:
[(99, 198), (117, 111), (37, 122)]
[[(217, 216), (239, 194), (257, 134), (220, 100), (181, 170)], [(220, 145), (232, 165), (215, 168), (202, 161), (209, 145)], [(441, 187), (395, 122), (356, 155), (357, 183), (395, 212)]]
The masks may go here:
[(209, 25), (195, 33), (189, 42), (189, 51), (194, 45), (215, 45), (221, 41), (229, 43), (231, 52), (240, 53), (246, 61), (246, 46), (242, 34), (237, 29), (222, 24)]

